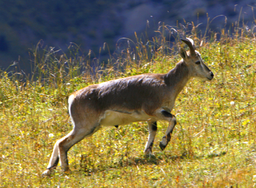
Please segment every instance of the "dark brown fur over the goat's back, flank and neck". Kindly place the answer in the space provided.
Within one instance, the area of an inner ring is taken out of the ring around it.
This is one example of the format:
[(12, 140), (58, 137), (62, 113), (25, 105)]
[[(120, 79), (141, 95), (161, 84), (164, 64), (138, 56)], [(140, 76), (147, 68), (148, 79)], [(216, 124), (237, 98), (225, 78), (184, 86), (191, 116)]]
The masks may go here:
[(184, 86), (180, 84), (182, 77), (188, 79), (188, 70), (181, 61), (166, 74), (145, 73), (90, 85), (73, 93), (75, 98), (71, 109), (76, 106), (75, 113), (85, 106), (96, 113), (106, 109), (143, 109), (152, 115), (156, 108), (173, 100), (170, 97), (173, 92), (174, 97), (178, 95)]

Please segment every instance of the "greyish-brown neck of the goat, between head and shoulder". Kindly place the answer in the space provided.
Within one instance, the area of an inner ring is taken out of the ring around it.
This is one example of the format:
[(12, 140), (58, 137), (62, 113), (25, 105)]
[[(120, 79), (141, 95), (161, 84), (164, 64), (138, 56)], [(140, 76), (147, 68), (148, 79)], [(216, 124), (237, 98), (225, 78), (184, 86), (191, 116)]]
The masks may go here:
[(176, 66), (165, 75), (165, 83), (170, 87), (171, 92), (174, 92), (174, 98), (177, 97), (178, 93), (189, 79), (189, 69), (183, 60), (179, 61)]

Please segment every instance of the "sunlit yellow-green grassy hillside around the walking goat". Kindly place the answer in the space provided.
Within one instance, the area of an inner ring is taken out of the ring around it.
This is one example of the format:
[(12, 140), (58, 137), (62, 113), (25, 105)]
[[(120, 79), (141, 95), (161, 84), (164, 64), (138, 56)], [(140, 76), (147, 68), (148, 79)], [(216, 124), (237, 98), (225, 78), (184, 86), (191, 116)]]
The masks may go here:
[(172, 47), (163, 30), (147, 44), (130, 41), (101, 67), (90, 61), (90, 54), (77, 55), (73, 46), (70, 54), (62, 54), (37, 45), (32, 75), (1, 71), (0, 186), (255, 186), (256, 38), (245, 29), (234, 30), (233, 37), (224, 30), (213, 33), (207, 42), (193, 29), (190, 33), (215, 76), (210, 82), (193, 79), (180, 92), (172, 111), (177, 125), (171, 141), (160, 150), (167, 122), (159, 122), (150, 158), (142, 152), (146, 123), (132, 123), (102, 128), (74, 145), (68, 152), (71, 173), (58, 166), (52, 176), (41, 176), (54, 142), (72, 129), (69, 94), (117, 77), (167, 72), (180, 58), (177, 47), (185, 46), (178, 37)]

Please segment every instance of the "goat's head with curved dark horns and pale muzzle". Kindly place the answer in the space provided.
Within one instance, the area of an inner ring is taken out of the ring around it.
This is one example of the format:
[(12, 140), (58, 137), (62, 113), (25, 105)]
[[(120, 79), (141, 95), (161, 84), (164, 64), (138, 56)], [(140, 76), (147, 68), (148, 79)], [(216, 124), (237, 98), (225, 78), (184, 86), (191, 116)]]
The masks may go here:
[(183, 61), (187, 65), (190, 76), (203, 80), (211, 80), (213, 78), (212, 71), (204, 64), (201, 55), (195, 50), (194, 42), (191, 38), (181, 39), (185, 42), (189, 51), (185, 51), (184, 48), (179, 48), (179, 54), (183, 58)]

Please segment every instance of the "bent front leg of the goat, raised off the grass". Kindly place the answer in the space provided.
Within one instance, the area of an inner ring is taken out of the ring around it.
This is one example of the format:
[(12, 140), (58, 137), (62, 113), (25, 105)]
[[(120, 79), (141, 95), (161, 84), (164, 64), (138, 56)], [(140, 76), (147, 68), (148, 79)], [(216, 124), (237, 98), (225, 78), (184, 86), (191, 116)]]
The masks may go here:
[(162, 136), (162, 140), (159, 143), (159, 147), (161, 148), (161, 150), (163, 150), (167, 146), (168, 142), (170, 141), (172, 130), (176, 124), (176, 118), (174, 115), (172, 115), (171, 113), (169, 113), (167, 111), (162, 111), (162, 113), (164, 114), (164, 116), (170, 117), (170, 121), (169, 121), (169, 125), (165, 131), (165, 134), (164, 134), (164, 136)]

